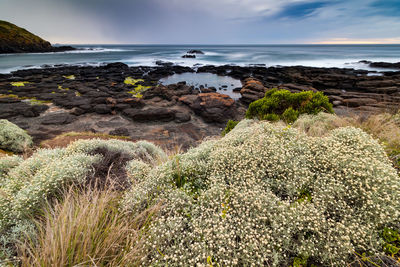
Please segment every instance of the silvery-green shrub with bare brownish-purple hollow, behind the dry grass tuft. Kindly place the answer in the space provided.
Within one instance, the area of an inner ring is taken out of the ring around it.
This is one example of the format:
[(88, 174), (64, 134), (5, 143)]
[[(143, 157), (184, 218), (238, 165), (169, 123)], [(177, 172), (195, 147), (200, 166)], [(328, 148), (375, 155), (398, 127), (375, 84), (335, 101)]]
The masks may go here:
[(16, 240), (27, 229), (33, 231), (32, 218), (41, 214), (48, 201), (60, 197), (66, 186), (104, 186), (107, 179), (121, 178), (113, 175), (114, 169), (126, 176), (126, 161), (154, 163), (163, 156), (160, 148), (148, 142), (81, 140), (65, 149), (38, 150), (25, 161), (1, 158), (0, 263), (12, 256)]

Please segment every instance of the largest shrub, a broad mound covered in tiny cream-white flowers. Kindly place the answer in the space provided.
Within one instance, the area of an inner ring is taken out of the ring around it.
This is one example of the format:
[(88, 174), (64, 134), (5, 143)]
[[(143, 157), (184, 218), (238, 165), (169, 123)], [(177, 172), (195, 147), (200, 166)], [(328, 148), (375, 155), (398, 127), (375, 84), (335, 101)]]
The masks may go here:
[(400, 178), (362, 130), (310, 137), (246, 120), (148, 172), (122, 204), (156, 203), (144, 266), (345, 266), (354, 252), (381, 251)]

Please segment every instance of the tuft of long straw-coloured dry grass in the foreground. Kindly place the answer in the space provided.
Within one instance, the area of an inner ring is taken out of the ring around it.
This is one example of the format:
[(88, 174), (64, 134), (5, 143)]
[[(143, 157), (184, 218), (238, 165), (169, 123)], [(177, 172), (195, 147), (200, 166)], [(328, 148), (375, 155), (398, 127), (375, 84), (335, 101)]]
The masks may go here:
[(49, 203), (37, 220), (37, 240), (19, 246), (21, 266), (136, 266), (143, 231), (160, 205), (131, 216), (119, 209), (121, 192), (73, 190)]

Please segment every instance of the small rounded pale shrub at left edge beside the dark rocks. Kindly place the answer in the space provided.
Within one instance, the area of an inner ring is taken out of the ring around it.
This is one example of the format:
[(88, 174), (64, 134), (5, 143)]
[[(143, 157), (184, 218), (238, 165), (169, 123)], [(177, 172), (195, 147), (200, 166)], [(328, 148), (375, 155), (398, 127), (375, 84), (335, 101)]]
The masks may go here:
[(0, 120), (0, 149), (21, 153), (32, 144), (26, 131), (8, 120)]

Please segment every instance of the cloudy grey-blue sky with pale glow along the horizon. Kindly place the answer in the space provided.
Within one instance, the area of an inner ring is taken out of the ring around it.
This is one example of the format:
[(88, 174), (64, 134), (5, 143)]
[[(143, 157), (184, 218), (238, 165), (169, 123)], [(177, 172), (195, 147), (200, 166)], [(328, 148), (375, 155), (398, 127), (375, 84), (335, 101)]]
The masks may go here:
[(400, 43), (400, 0), (0, 0), (62, 44)]

